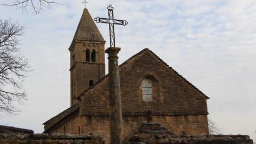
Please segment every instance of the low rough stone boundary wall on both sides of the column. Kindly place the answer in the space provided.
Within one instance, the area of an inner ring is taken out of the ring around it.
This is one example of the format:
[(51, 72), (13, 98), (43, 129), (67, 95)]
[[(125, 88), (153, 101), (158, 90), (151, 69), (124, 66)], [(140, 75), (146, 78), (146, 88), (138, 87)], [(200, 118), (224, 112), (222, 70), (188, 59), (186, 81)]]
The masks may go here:
[[(0, 134), (1, 144), (104, 144), (99, 135), (76, 134)], [(125, 144), (253, 144), (248, 135), (163, 135), (136, 134)]]

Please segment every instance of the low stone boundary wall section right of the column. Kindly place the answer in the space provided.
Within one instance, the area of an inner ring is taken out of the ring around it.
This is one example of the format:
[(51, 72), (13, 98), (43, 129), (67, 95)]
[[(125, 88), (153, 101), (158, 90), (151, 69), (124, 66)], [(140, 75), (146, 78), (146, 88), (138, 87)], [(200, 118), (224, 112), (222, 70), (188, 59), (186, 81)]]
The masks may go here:
[(125, 144), (253, 144), (248, 135), (163, 135), (136, 134)]

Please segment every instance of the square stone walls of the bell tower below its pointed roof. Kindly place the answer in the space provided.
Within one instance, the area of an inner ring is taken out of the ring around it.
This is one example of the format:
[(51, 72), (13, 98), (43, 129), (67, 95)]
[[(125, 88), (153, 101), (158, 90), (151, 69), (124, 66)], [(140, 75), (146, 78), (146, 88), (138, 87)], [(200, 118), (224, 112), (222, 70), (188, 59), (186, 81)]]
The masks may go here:
[[(90, 55), (95, 50), (95, 62), (86, 61), (86, 50)], [(103, 43), (76, 43), (70, 50), (71, 106), (77, 101), (75, 96), (89, 88), (89, 81), (99, 81), (105, 76), (105, 47)]]

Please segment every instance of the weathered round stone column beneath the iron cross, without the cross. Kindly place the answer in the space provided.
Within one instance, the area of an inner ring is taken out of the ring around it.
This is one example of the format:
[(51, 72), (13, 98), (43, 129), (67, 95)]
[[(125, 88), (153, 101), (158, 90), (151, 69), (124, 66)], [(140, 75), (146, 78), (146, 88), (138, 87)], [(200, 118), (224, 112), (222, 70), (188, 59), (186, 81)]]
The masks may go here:
[(121, 49), (119, 47), (109, 47), (105, 52), (108, 53), (108, 71), (109, 71), (109, 128), (110, 143), (123, 143), (123, 118), (121, 105), (120, 77), (118, 68), (117, 54)]

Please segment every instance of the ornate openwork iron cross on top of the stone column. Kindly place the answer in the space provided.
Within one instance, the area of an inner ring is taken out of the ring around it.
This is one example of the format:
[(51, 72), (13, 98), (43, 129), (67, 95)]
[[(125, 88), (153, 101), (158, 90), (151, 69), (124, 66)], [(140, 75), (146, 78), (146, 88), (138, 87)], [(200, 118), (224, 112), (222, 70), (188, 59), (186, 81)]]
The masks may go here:
[(116, 20), (114, 19), (114, 7), (112, 5), (108, 6), (108, 19), (107, 18), (95, 18), (97, 23), (109, 23), (109, 37), (110, 37), (110, 47), (115, 47), (115, 29), (114, 25), (124, 25), (126, 26), (128, 22), (126, 20)]

